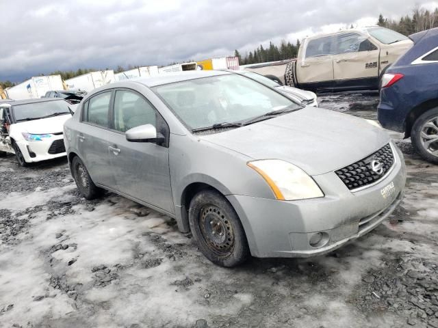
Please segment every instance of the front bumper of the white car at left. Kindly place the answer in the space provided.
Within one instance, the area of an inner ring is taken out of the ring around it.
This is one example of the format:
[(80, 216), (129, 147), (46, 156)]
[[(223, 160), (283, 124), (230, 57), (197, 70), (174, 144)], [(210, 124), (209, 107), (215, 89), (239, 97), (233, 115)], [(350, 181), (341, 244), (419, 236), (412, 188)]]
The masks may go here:
[[(62, 135), (53, 135), (53, 137), (44, 139), (42, 141), (16, 141), (18, 147), (20, 147), (21, 153), (23, 154), (25, 161), (27, 163), (47, 161), (49, 159), (56, 159), (58, 157), (66, 156), (65, 148), (62, 152), (56, 152), (51, 154), (49, 150), (54, 141), (60, 143), (64, 142)], [(54, 150), (59, 150), (59, 148), (52, 148)], [(52, 151), (51, 151), (52, 152)]]

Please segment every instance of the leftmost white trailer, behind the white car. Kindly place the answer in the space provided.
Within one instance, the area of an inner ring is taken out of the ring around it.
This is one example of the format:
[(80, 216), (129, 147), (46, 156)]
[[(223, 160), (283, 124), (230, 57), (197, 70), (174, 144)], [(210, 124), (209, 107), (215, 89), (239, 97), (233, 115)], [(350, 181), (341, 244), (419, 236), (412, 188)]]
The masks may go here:
[(61, 75), (49, 75), (48, 77), (31, 77), (20, 84), (8, 87), (5, 90), (8, 98), (14, 100), (41, 98), (51, 90), (64, 90)]

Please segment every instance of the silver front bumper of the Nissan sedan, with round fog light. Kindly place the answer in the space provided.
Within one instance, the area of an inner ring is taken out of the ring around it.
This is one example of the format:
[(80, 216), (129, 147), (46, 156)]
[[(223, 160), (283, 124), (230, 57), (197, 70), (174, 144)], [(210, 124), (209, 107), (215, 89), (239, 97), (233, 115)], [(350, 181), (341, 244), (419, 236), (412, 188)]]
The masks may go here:
[[(406, 182), (402, 154), (394, 149), (396, 163), (391, 173), (357, 192), (348, 190), (330, 172), (313, 176), (326, 195), (321, 198), (279, 201), (228, 195), (244, 226), (251, 254), (260, 258), (318, 256), (376, 228), (399, 204)], [(328, 238), (324, 245), (312, 247), (311, 236), (317, 232)]]

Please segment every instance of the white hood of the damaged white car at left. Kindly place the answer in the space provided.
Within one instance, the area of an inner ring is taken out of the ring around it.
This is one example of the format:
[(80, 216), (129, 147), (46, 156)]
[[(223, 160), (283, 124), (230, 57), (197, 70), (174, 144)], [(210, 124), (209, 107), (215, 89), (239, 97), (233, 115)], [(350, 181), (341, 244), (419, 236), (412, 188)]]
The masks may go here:
[(14, 131), (27, 132), (32, 134), (60, 133), (62, 132), (64, 122), (71, 118), (70, 114), (53, 116), (53, 118), (41, 118), (40, 120), (31, 120), (17, 122), (13, 124)]

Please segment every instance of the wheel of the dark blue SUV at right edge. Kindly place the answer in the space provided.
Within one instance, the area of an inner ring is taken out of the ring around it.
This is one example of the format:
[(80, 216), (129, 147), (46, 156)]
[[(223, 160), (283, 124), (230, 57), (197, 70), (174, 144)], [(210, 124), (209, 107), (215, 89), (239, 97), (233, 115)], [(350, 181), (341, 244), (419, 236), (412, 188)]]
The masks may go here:
[(412, 127), (411, 140), (415, 150), (426, 161), (438, 164), (438, 107), (417, 118)]

